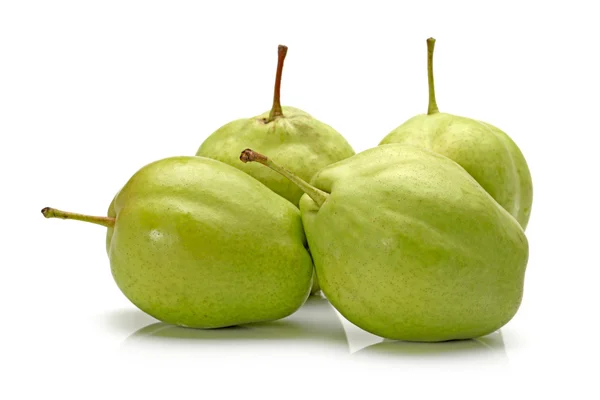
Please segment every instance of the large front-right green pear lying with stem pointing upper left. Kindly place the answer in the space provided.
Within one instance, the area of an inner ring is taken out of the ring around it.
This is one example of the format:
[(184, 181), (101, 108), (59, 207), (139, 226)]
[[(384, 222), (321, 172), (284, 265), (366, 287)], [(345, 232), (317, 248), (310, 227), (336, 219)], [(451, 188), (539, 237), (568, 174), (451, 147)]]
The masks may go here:
[(308, 184), (300, 211), (319, 283), (350, 322), (407, 341), (491, 333), (517, 312), (528, 242), (519, 223), (460, 165), (400, 144), (366, 150)]

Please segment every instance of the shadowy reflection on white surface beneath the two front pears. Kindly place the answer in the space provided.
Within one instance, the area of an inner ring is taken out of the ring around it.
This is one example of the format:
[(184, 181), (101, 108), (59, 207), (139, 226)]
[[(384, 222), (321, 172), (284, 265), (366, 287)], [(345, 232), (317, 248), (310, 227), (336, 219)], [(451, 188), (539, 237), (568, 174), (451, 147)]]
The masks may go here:
[(382, 339), (344, 319), (320, 296), (311, 296), (293, 315), (279, 321), (248, 324), (222, 329), (190, 329), (162, 322), (137, 309), (120, 310), (109, 315), (113, 330), (127, 334), (123, 348), (165, 350), (244, 349), (279, 351), (302, 348), (307, 353), (333, 351), (357, 361), (473, 362), (485, 360), (508, 364), (500, 331), (482, 338), (441, 343), (416, 343)]

